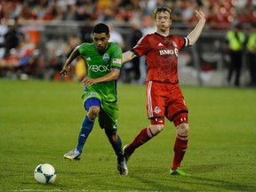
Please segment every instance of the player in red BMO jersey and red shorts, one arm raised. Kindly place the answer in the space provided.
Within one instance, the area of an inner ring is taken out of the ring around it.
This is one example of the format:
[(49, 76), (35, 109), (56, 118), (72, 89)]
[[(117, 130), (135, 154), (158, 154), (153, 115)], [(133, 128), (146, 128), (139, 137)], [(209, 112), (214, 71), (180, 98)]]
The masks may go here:
[(164, 116), (177, 129), (171, 175), (188, 176), (180, 169), (180, 163), (188, 148), (188, 107), (180, 91), (178, 79), (178, 55), (181, 48), (193, 45), (201, 35), (204, 12), (196, 11), (198, 22), (187, 37), (170, 35), (172, 10), (158, 7), (155, 10), (156, 33), (140, 38), (132, 50), (123, 53), (123, 63), (142, 55), (146, 56), (148, 77), (146, 103), (150, 125), (140, 131), (131, 144), (124, 146), (126, 161), (136, 148), (145, 144), (164, 129)]

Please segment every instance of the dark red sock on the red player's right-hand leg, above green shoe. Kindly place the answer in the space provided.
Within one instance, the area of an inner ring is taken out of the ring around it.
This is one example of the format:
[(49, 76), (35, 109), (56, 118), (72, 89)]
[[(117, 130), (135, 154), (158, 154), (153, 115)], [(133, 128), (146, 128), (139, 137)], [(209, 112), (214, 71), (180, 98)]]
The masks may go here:
[(172, 170), (176, 170), (180, 167), (180, 163), (185, 155), (186, 149), (188, 148), (188, 136), (176, 136), (174, 143), (174, 158), (172, 162)]

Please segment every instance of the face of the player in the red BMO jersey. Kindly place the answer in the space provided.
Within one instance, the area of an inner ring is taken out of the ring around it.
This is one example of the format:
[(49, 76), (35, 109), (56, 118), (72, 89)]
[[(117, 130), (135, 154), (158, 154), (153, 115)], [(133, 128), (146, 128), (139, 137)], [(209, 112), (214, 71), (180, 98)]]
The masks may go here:
[(169, 12), (158, 12), (156, 14), (156, 28), (165, 32), (169, 30), (172, 20)]

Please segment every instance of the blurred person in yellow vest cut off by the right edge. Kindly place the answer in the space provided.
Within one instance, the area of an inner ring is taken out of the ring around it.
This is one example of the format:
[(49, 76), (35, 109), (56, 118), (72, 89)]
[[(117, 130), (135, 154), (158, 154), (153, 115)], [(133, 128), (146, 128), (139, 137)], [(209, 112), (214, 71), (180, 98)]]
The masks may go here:
[(248, 52), (249, 69), (251, 75), (250, 85), (256, 86), (256, 23), (252, 24), (246, 48)]

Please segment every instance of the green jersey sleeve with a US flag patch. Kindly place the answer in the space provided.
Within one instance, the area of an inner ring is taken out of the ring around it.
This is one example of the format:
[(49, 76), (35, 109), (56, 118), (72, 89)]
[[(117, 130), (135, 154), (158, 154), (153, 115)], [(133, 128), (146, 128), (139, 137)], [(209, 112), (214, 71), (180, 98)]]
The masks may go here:
[(112, 47), (112, 59), (111, 59), (111, 68), (118, 68), (120, 69), (122, 66), (122, 49), (119, 44), (111, 43)]

